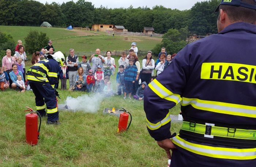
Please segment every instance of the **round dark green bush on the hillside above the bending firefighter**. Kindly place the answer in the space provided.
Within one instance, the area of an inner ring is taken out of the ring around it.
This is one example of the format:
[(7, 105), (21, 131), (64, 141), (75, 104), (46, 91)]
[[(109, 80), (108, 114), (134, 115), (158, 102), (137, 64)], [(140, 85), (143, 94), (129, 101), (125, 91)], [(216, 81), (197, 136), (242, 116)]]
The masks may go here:
[(37, 30), (29, 31), (27, 37), (25, 37), (25, 52), (33, 54), (36, 51), (40, 51), (41, 48), (44, 48), (48, 45), (49, 38), (46, 36), (46, 33), (40, 32)]

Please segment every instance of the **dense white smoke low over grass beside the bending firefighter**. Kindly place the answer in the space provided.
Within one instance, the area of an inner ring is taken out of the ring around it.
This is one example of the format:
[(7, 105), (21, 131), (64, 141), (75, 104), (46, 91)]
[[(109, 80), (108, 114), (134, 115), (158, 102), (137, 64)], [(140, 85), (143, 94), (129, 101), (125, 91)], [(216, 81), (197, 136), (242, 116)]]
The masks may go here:
[(77, 98), (67, 97), (66, 106), (68, 109), (83, 111), (86, 113), (95, 113), (98, 111), (103, 96), (93, 94), (92, 96), (83, 95)]

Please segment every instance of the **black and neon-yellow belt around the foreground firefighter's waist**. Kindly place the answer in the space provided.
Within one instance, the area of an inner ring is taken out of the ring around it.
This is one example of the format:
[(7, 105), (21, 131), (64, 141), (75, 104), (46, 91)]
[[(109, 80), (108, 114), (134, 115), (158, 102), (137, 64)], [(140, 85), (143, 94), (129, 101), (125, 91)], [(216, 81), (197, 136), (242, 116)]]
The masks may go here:
[(256, 148), (255, 125), (207, 123), (195, 119), (184, 119), (179, 136), (212, 144)]

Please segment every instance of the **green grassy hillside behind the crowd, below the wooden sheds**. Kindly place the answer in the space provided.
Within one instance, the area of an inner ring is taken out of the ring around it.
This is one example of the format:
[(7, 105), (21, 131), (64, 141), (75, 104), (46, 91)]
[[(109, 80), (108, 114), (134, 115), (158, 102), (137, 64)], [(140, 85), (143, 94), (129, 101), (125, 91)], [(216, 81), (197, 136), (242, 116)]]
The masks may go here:
[[(136, 42), (139, 50), (151, 50), (157, 43), (161, 42), (158, 37), (128, 37), (125, 40), (123, 36), (106, 35), (104, 32), (86, 31), (86, 30), (67, 30), (62, 28), (45, 27), (23, 27), (23, 26), (0, 26), (0, 31), (12, 35), (15, 42), (21, 39), (24, 44), (24, 38), (29, 31), (38, 30), (47, 34), (52, 40), (56, 51), (69, 52), (70, 48), (75, 52), (95, 52), (97, 48), (107, 50), (125, 50), (131, 48), (131, 43)], [(26, 48), (25, 48), (26, 51)]]

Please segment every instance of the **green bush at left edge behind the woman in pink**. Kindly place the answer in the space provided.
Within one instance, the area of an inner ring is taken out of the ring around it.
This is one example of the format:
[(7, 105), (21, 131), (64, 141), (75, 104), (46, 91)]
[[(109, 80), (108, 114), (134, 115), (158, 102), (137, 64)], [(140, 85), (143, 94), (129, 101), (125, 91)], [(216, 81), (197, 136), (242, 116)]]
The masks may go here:
[(6, 55), (6, 50), (11, 49), (12, 53), (15, 52), (15, 42), (10, 34), (5, 34), (0, 31), (0, 63), (2, 65), (2, 59)]

